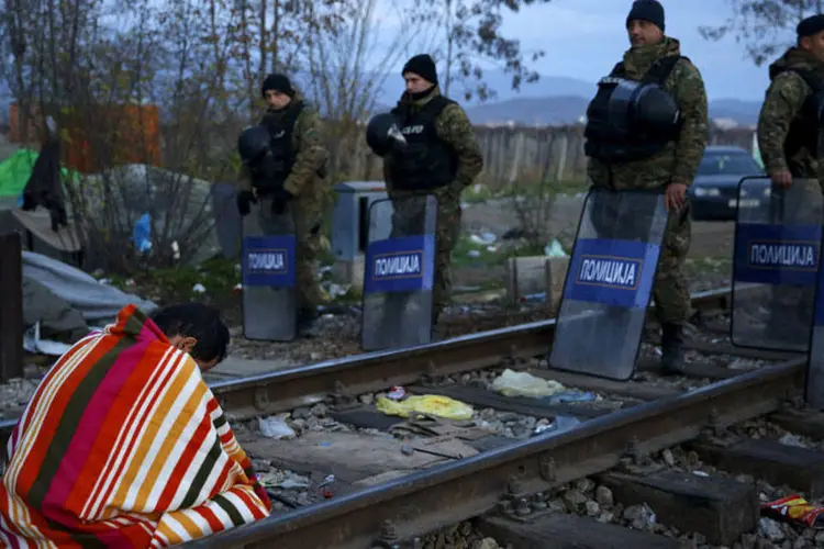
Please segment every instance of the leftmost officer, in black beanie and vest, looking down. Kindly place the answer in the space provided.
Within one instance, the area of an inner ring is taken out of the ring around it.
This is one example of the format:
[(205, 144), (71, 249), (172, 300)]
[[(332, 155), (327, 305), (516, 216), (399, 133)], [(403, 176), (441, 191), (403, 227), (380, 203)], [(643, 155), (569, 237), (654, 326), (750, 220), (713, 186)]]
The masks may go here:
[(241, 166), (237, 209), (246, 216), (250, 204), (259, 202), (260, 226), (267, 234), (278, 234), (277, 220), (290, 214), (296, 235), (298, 329), (305, 335), (324, 301), (314, 261), (322, 246), (329, 155), (318, 110), (304, 101), (287, 76), (267, 76), (260, 91), (267, 103), (260, 126), (268, 130), (270, 163), (266, 170), (245, 163)]

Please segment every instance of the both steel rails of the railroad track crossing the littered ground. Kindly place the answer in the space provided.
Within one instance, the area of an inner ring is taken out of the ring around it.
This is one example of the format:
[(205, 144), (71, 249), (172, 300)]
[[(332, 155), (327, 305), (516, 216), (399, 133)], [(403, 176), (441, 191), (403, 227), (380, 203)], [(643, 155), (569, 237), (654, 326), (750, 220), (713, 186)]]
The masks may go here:
[[(692, 295), (702, 312), (728, 309), (728, 289)], [(467, 335), (413, 349), (330, 360), (210, 386), (230, 417), (256, 416), (352, 400), (363, 393), (545, 356), (555, 321)], [(755, 357), (758, 354), (749, 354)], [(608, 471), (633, 452), (648, 455), (778, 411), (803, 390), (805, 356), (772, 354), (776, 366), (588, 418), (568, 430), (512, 441), (334, 500), (187, 544), (191, 547), (400, 547), (444, 526), (482, 516), (512, 495), (513, 478), (530, 494)], [(516, 368), (517, 369), (517, 368)], [(617, 385), (620, 383), (615, 383)], [(0, 424), (8, 433), (14, 422)], [(383, 533), (383, 539), (380, 539)]]

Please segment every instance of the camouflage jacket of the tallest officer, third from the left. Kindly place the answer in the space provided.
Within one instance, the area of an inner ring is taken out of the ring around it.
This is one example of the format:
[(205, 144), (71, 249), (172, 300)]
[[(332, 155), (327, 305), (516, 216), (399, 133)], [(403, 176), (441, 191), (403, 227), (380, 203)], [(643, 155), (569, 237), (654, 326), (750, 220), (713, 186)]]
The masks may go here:
[[(624, 53), (626, 77), (641, 80), (657, 59), (680, 55), (678, 40), (665, 37), (660, 44), (631, 48)], [(701, 74), (692, 63), (680, 59), (664, 82), (681, 111), (682, 126), (678, 139), (664, 150), (643, 160), (612, 166), (612, 184), (622, 189), (655, 189), (669, 183), (692, 184), (706, 148), (709, 119), (706, 90)], [(589, 159), (587, 176), (592, 184), (610, 184), (609, 168)]]

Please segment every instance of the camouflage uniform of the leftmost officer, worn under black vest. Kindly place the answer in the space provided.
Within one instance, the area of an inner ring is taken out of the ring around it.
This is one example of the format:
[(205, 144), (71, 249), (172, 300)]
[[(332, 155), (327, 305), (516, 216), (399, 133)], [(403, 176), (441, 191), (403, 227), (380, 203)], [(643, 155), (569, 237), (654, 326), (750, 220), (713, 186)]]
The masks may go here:
[[(303, 101), (296, 94), (289, 107), (281, 111), (268, 109), (265, 116), (283, 116), (288, 109)], [(276, 119), (277, 120), (277, 119)], [(310, 315), (325, 300), (315, 277), (315, 261), (322, 250), (321, 225), (329, 204), (329, 181), (326, 164), (329, 154), (323, 147), (323, 127), (320, 114), (304, 105), (298, 115), (292, 132), (292, 150), (294, 165), (283, 188), (294, 198), (289, 202), (285, 213), (291, 214), (292, 226), (279, 225), (278, 216), (272, 214), (270, 197), (260, 197), (258, 202), (260, 226), (265, 233), (282, 234), (294, 231), (296, 235), (296, 285), (299, 293), (299, 307)], [(241, 165), (240, 189), (252, 190), (252, 175), (245, 165)]]

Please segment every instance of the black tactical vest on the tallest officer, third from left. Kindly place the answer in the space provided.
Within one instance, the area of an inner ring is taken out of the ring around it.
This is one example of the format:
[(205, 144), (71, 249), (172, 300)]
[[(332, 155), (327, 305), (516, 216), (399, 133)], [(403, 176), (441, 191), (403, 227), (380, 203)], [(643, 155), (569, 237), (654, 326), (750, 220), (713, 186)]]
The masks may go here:
[[(642, 78), (641, 83), (664, 82), (680, 59), (688, 57), (672, 55), (656, 60)], [(587, 108), (587, 127), (583, 131), (586, 143), (583, 152), (587, 156), (605, 164), (621, 164), (632, 160), (649, 158), (659, 153), (668, 143), (677, 137), (677, 127), (671, 135), (647, 135), (641, 132), (623, 132), (610, 123), (610, 97), (615, 89), (613, 78), (626, 78), (624, 63), (621, 61), (610, 72), (609, 77), (598, 83), (598, 93)]]

